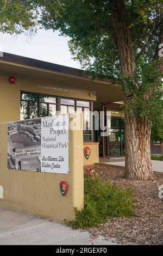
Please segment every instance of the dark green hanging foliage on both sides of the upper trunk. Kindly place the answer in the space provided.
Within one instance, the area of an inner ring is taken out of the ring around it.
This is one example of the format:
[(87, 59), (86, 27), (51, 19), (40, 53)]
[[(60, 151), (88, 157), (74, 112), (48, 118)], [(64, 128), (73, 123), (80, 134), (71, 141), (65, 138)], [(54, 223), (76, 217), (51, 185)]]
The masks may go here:
[[(36, 1), (38, 2), (38, 1)], [(41, 1), (39, 1), (41, 2)], [(114, 32), (112, 12), (114, 1), (62, 0), (44, 1), (46, 15), (40, 22), (46, 29), (59, 30), (70, 37), (70, 51), (92, 74), (121, 77), (120, 61)], [(60, 4), (59, 15), (53, 9)], [(145, 62), (152, 59), (158, 45), (162, 0), (124, 1), (135, 56), (141, 51)]]

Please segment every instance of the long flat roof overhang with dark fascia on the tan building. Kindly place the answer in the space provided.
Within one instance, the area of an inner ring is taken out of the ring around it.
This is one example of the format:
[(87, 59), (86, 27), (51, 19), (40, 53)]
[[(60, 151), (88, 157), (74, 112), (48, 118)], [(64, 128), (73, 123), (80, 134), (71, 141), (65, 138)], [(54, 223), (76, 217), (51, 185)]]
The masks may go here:
[[(97, 77), (92, 80), (80, 69), (4, 53), (3, 57), (0, 57), (0, 72), (38, 79), (46, 83), (62, 84), (63, 86), (71, 84), (72, 88), (96, 93), (97, 105), (100, 105), (101, 102), (122, 101), (122, 88), (115, 84), (115, 78)], [(120, 106), (118, 105), (118, 107)]]

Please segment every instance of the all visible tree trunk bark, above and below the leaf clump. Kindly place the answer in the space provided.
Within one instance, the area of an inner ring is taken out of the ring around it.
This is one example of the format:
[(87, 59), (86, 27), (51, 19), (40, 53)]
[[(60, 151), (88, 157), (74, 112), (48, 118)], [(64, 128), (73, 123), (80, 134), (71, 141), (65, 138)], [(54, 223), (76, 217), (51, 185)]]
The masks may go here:
[[(124, 0), (114, 0), (113, 26), (123, 77), (129, 77), (135, 86), (135, 54), (130, 28), (125, 16)], [(123, 81), (125, 83), (125, 80)], [(129, 104), (130, 94), (124, 91), (124, 103)], [(151, 125), (139, 115), (125, 115), (126, 123), (126, 166), (125, 178), (154, 180), (151, 161)]]

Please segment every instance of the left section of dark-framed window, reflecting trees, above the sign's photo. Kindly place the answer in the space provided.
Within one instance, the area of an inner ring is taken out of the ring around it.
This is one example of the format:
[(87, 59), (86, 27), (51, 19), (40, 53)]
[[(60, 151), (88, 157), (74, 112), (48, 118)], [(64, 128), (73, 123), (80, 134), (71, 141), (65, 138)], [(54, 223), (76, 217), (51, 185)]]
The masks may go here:
[(21, 93), (21, 120), (55, 115), (56, 111), (56, 97)]

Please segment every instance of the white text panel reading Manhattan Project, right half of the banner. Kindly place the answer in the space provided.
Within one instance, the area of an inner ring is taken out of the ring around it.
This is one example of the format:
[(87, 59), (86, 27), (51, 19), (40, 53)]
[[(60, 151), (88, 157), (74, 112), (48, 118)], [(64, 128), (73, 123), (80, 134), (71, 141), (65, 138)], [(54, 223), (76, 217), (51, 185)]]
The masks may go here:
[(68, 115), (41, 118), (41, 172), (68, 173)]

